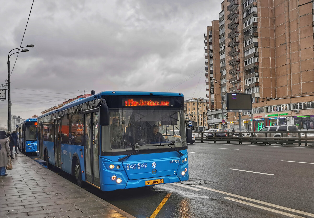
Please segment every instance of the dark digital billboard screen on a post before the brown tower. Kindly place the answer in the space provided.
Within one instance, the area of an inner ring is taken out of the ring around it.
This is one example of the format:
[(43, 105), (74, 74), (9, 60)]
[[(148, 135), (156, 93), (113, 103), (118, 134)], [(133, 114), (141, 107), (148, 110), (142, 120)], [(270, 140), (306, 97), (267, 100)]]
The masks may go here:
[(226, 93), (227, 111), (252, 111), (252, 95), (243, 93)]

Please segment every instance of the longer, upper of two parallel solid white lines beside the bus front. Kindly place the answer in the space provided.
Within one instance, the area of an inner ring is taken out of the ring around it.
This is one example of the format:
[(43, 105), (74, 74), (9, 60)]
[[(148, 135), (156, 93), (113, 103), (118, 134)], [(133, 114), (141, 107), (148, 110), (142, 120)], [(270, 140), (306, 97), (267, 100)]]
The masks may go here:
[(241, 199), (244, 199), (244, 200), (247, 200), (247, 201), (252, 201), (252, 202), (255, 202), (255, 203), (258, 203), (258, 204), (264, 204), (264, 205), (267, 205), (267, 206), (270, 206), (270, 207), (275, 207), (275, 208), (278, 208), (278, 209), (281, 209), (281, 210), (287, 210), (287, 211), (290, 211), (290, 212), (294, 212), (294, 213), (298, 213), (298, 214), (314, 217), (314, 214), (311, 214), (311, 213), (308, 213), (308, 212), (304, 212), (304, 211), (301, 211), (301, 210), (295, 210), (295, 209), (291, 209), (291, 208), (288, 208), (288, 207), (283, 207), (283, 206), (280, 206), (280, 205), (276, 205), (276, 204), (271, 204), (271, 203), (267, 203), (267, 202), (264, 202), (264, 201), (255, 200), (253, 198), (246, 198), (246, 197), (243, 197), (241, 195), (231, 194), (231, 193), (228, 193), (228, 192), (223, 192), (223, 191), (219, 191), (219, 190), (216, 190), (216, 189), (213, 189), (213, 188), (204, 187), (204, 186), (196, 185), (195, 187), (203, 188), (203, 189), (206, 189), (206, 190), (209, 190), (209, 191), (212, 191), (212, 192), (218, 192), (218, 193), (225, 194), (225, 195), (230, 195), (232, 197), (241, 198)]

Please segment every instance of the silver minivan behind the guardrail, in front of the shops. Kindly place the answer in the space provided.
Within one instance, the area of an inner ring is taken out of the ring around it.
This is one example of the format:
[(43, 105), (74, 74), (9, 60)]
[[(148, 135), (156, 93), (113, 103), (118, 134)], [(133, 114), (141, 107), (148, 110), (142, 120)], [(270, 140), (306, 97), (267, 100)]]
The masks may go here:
[[(299, 129), (295, 125), (274, 125), (274, 126), (265, 126), (260, 131), (255, 133), (255, 137), (265, 137), (265, 131), (291, 131), (283, 133), (283, 137), (287, 138), (297, 138), (299, 137), (298, 132)], [(266, 137), (281, 137), (280, 132), (267, 133)]]

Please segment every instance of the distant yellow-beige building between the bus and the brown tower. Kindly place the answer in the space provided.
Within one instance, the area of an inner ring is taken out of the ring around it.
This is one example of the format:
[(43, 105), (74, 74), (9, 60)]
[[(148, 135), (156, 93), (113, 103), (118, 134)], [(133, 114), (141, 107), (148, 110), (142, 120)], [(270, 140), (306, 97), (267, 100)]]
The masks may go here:
[(193, 121), (193, 129), (207, 130), (208, 101), (203, 98), (190, 98), (184, 101), (186, 120)]

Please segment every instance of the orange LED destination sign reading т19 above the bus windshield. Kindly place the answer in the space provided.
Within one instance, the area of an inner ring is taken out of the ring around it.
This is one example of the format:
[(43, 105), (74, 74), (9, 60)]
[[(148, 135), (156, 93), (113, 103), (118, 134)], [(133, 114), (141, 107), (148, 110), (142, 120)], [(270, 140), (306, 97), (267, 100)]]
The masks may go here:
[(143, 106), (173, 106), (171, 99), (149, 99), (149, 98), (124, 98), (122, 105), (125, 107), (143, 107)]

